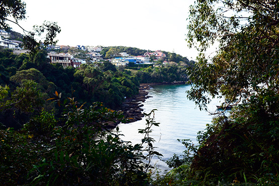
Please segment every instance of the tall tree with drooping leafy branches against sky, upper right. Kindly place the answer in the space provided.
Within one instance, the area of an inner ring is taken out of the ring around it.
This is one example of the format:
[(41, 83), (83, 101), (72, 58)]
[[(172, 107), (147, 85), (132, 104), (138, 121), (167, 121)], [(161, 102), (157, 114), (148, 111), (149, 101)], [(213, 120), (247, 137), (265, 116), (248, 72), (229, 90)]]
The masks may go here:
[[(218, 5), (218, 6), (217, 6)], [(231, 102), (262, 89), (279, 90), (277, 1), (197, 1), (190, 9), (188, 42), (201, 52), (189, 70), (190, 98), (204, 107), (205, 92), (219, 93)], [(212, 58), (202, 53), (219, 42)]]

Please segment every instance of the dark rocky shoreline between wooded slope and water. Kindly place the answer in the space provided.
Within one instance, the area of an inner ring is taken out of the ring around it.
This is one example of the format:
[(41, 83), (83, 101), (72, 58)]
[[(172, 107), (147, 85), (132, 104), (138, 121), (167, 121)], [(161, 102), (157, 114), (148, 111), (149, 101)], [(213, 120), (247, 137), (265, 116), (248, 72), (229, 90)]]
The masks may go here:
[[(132, 98), (126, 99), (123, 102), (120, 111), (123, 111), (123, 115), (125, 118), (129, 119), (126, 123), (132, 123), (138, 120), (142, 120), (144, 114), (142, 113), (143, 106), (142, 103), (145, 102), (146, 99), (151, 98), (148, 96), (148, 89), (154, 85), (163, 85), (163, 84), (185, 84), (184, 81), (174, 81), (174, 82), (165, 82), (165, 83), (142, 83), (139, 86), (139, 94), (133, 96)], [(120, 121), (109, 123), (107, 128), (113, 129), (115, 128)]]

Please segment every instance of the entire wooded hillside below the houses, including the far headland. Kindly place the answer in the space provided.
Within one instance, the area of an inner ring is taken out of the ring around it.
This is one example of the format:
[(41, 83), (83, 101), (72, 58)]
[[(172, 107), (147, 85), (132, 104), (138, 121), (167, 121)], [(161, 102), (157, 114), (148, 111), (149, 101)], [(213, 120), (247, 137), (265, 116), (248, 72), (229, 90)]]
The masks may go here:
[[(139, 83), (185, 81), (187, 64), (170, 63), (166, 66), (141, 68), (138, 70), (117, 69), (110, 62), (84, 64), (80, 69), (63, 68), (60, 64), (50, 64), (45, 50), (34, 57), (27, 54), (15, 55), (12, 50), (0, 50), (0, 85), (9, 86), (8, 95), (2, 97), (0, 119), (7, 127), (20, 128), (27, 122), (32, 112), (23, 112), (23, 100), (27, 92), (17, 92), (27, 80), (34, 81), (34, 88), (40, 92), (40, 102), (30, 103), (36, 108), (48, 110), (46, 101), (57, 91), (61, 98), (75, 98), (84, 107), (94, 102), (102, 102), (110, 109), (118, 109), (125, 98), (138, 94)], [(19, 97), (14, 99), (14, 97)], [(19, 102), (19, 103), (17, 103)], [(44, 103), (44, 104), (43, 104)], [(21, 106), (20, 106), (21, 104)], [(56, 106), (57, 107), (57, 106)], [(59, 108), (56, 108), (59, 110)], [(60, 111), (61, 112), (61, 111)], [(57, 115), (59, 113), (57, 111)]]

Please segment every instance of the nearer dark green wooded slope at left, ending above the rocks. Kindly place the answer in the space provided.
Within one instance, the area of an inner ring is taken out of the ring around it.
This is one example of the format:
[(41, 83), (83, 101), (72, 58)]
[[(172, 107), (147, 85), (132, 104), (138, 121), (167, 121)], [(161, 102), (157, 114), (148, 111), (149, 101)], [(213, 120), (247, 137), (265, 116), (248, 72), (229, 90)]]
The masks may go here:
[[(50, 64), (44, 50), (39, 51), (32, 58), (27, 54), (15, 55), (12, 50), (0, 50), (0, 85), (8, 85), (8, 95), (2, 100), (8, 104), (13, 100), (13, 92), (24, 86), (25, 80), (36, 82), (36, 88), (43, 93), (43, 99), (53, 96), (56, 90), (63, 97), (78, 98), (80, 102), (89, 106), (93, 102), (103, 102), (108, 108), (117, 109), (124, 98), (138, 93), (139, 82), (136, 76), (117, 71), (109, 62), (99, 65), (83, 65), (80, 69), (63, 68), (60, 64)], [(23, 95), (19, 95), (23, 96)], [(49, 104), (44, 109), (50, 109)], [(61, 110), (56, 109), (56, 115)], [(5, 106), (1, 109), (2, 123), (20, 128), (32, 115), (22, 108)], [(14, 114), (11, 114), (14, 113)], [(12, 119), (14, 118), (14, 119)], [(12, 120), (11, 120), (12, 119)]]

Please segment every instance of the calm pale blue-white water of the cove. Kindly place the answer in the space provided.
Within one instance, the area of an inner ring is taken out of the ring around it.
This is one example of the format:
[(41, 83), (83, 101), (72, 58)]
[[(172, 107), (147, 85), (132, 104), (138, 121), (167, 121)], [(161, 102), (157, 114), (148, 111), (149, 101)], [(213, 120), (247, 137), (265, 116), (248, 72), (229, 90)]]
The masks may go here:
[[(161, 169), (167, 169), (163, 162), (175, 154), (182, 154), (185, 147), (177, 139), (191, 139), (197, 144), (197, 132), (204, 130), (206, 124), (211, 123), (212, 116), (205, 111), (196, 108), (194, 102), (189, 101), (185, 94), (186, 90), (191, 88), (190, 85), (158, 85), (149, 90), (147, 99), (143, 103), (144, 113), (155, 111), (155, 121), (160, 123), (159, 127), (154, 126), (152, 137), (156, 140), (154, 146), (156, 150), (163, 154), (162, 160), (153, 158), (153, 164)], [(213, 101), (209, 105), (211, 111), (216, 110), (218, 101)], [(196, 108), (196, 109), (195, 109)], [(120, 124), (119, 128), (123, 140), (131, 141), (133, 144), (140, 143), (143, 135), (138, 133), (138, 129), (145, 128), (145, 119), (130, 123)]]

